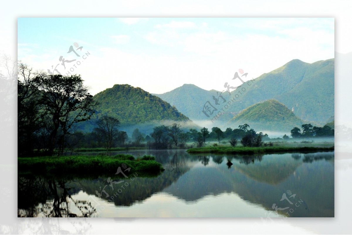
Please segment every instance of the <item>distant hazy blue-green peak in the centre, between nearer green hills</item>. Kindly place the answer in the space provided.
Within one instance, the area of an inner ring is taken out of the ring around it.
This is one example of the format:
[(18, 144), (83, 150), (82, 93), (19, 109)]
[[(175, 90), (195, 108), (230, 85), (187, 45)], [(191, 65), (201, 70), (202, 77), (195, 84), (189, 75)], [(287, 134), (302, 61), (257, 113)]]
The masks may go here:
[(204, 90), (193, 84), (184, 84), (172, 91), (153, 95), (176, 106), (181, 113), (187, 113), (187, 117), (192, 120), (204, 120), (206, 116), (202, 113), (203, 105), (209, 98), (212, 99), (212, 95), (216, 95), (216, 92)]

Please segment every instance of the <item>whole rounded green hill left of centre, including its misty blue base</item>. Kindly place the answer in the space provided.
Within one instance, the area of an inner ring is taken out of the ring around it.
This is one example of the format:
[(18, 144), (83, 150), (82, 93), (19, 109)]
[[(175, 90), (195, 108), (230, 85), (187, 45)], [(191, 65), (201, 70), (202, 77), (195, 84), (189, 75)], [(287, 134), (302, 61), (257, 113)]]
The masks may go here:
[(150, 135), (157, 125), (181, 124), (183, 130), (200, 129), (188, 117), (159, 97), (152, 95), (139, 87), (130, 85), (114, 85), (94, 95), (98, 101), (96, 114), (87, 122), (76, 123), (76, 128), (90, 132), (96, 127), (96, 121), (103, 115), (115, 117), (120, 121), (119, 130), (132, 135), (138, 128), (144, 135)]

